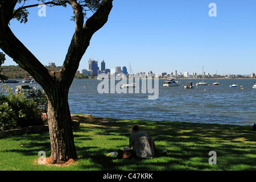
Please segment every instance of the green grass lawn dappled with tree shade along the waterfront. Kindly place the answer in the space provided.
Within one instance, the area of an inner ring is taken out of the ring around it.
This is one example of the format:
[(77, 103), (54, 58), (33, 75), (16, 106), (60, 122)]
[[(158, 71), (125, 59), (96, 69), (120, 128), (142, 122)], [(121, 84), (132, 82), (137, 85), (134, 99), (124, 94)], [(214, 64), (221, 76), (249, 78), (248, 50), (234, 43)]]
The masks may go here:
[[(49, 133), (0, 139), (0, 170), (255, 170), (256, 132), (251, 126), (204, 123), (134, 121), (73, 115), (79, 159), (69, 166), (38, 164), (38, 152), (51, 155)], [(154, 140), (153, 159), (107, 156), (129, 144), (129, 129), (137, 124)], [(167, 150), (167, 155), (162, 154)], [(217, 164), (209, 164), (216, 151)]]

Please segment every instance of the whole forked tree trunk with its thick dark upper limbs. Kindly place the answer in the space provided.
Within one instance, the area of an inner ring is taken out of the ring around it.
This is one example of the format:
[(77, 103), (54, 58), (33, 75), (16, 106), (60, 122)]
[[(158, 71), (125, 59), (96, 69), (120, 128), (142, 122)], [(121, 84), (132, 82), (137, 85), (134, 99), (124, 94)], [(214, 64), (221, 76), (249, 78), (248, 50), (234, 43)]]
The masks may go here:
[(47, 94), (52, 163), (63, 163), (68, 159), (77, 158), (68, 105), (68, 90), (92, 35), (108, 20), (113, 6), (112, 1), (101, 0), (96, 13), (84, 23), (82, 6), (76, 0), (68, 0), (75, 13), (76, 31), (59, 72), (48, 71), (10, 30), (8, 24), (14, 18), (14, 7), (18, 1), (0, 1), (0, 48), (30, 73)]

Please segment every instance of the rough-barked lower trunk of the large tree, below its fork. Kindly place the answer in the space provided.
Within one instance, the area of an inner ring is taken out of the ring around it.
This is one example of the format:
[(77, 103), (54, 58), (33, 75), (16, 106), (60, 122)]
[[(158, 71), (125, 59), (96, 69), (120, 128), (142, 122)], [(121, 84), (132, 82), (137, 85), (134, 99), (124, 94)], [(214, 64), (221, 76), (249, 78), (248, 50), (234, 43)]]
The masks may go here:
[[(68, 106), (68, 89), (62, 86), (52, 88), (50, 92), (46, 91), (52, 163), (63, 163), (77, 158)], [(53, 90), (55, 91), (52, 92)]]

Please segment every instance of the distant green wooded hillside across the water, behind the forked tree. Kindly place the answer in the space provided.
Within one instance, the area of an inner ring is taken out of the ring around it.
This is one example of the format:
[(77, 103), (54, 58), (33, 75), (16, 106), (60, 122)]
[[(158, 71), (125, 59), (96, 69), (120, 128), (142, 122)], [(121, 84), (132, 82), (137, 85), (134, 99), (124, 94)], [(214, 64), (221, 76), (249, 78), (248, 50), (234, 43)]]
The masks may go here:
[[(56, 65), (51, 66), (45, 66), (49, 71), (60, 71), (61, 67), (57, 67)], [(21, 79), (21, 78), (28, 78), (31, 75), (25, 71), (24, 69), (20, 68), (19, 65), (9, 65), (9, 66), (3, 66), (2, 65), (1, 73), (2, 75), (7, 76), (9, 79)], [(82, 73), (77, 72), (75, 75), (75, 78), (81, 79), (81, 78), (88, 78), (86, 75), (83, 75)]]

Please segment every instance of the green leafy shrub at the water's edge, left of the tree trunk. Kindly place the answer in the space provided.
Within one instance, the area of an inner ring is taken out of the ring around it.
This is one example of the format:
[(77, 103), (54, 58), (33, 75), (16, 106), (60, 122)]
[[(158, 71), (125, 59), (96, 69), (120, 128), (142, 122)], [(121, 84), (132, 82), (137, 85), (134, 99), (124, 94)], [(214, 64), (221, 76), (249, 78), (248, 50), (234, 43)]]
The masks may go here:
[(5, 90), (6, 94), (0, 96), (0, 128), (9, 130), (44, 125), (42, 113), (47, 108), (47, 99), (42, 90), (15, 93), (8, 86)]

